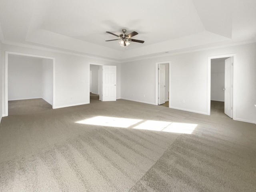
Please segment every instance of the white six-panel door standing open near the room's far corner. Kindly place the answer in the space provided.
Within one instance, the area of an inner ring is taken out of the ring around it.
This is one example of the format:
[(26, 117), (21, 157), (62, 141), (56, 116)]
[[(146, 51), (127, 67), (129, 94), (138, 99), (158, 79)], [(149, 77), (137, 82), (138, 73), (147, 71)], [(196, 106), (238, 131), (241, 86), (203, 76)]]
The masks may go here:
[(102, 101), (116, 101), (116, 66), (102, 66)]

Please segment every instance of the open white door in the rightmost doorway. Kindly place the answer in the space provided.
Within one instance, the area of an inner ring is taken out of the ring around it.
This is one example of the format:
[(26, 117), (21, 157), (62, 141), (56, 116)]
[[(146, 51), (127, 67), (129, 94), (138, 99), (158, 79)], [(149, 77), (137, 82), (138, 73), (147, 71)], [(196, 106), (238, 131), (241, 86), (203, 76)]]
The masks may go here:
[(224, 113), (233, 117), (233, 57), (225, 60)]

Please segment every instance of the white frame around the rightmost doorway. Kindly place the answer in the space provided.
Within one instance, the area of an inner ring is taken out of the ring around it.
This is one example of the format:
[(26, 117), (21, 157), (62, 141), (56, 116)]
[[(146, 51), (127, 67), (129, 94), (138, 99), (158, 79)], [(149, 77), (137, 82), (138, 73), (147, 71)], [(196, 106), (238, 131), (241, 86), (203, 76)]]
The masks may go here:
[(211, 113), (211, 59), (218, 59), (223, 57), (233, 57), (233, 118), (236, 120), (236, 53), (226, 55), (208, 56), (207, 62), (207, 115)]

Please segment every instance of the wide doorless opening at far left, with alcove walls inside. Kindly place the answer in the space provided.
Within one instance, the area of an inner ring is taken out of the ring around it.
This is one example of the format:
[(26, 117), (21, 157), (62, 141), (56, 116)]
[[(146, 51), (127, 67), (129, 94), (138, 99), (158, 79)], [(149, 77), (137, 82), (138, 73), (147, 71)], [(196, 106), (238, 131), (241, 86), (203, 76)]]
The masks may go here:
[[(40, 77), (35, 75), (37, 72)], [(52, 105), (52, 109), (55, 108), (55, 58), (53, 57), (6, 51), (4, 83), (3, 117), (8, 116), (9, 100), (42, 98)]]

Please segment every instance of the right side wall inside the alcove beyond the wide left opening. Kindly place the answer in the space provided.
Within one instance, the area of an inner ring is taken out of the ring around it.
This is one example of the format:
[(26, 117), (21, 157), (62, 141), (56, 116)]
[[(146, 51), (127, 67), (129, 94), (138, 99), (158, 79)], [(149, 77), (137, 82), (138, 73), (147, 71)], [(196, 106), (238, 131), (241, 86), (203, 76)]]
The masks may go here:
[(42, 59), (42, 99), (52, 105), (53, 103), (53, 60)]

